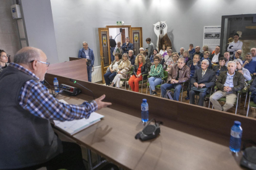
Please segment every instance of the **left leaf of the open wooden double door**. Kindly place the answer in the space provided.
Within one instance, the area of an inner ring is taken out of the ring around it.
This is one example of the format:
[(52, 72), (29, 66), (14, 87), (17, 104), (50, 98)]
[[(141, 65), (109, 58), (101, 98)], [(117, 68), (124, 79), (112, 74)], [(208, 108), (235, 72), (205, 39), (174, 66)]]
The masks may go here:
[(98, 28), (100, 40), (100, 61), (103, 84), (105, 83), (104, 75), (111, 64), (109, 30), (108, 28)]

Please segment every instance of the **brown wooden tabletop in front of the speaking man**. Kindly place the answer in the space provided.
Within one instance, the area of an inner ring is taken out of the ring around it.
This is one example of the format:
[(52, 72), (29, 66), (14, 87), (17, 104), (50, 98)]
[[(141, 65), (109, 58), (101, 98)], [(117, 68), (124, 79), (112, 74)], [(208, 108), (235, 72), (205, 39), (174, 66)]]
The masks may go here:
[[(80, 104), (88, 97), (58, 98)], [(133, 116), (113, 109), (118, 107), (96, 111), (105, 118), (72, 139), (126, 169), (241, 169), (241, 153), (236, 156), (229, 151), (229, 137), (165, 119), (164, 124), (171, 127), (163, 125), (160, 136), (141, 142), (134, 138), (143, 128), (140, 111), (123, 108), (139, 114)]]

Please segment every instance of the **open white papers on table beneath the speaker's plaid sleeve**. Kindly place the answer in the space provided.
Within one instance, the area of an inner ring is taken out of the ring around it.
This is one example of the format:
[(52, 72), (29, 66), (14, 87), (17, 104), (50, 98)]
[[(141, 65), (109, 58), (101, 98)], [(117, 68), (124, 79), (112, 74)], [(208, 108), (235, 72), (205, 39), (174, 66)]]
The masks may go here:
[[(65, 100), (59, 100), (59, 102), (68, 104)], [(90, 118), (88, 119), (79, 119), (79, 120), (72, 120), (72, 121), (56, 121), (54, 120), (55, 126), (59, 129), (62, 129), (63, 131), (66, 131), (70, 135), (73, 135), (79, 131), (82, 131), (88, 126), (91, 126), (98, 121), (100, 121), (101, 118), (103, 118), (103, 115), (100, 115), (98, 113), (91, 113)]]

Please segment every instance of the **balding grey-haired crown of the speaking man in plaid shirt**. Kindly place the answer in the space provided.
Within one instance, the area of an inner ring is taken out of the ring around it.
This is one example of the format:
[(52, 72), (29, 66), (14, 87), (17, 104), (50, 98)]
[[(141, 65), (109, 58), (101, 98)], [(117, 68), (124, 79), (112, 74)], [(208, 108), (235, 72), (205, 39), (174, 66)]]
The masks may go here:
[(33, 60), (40, 60), (40, 53), (41, 50), (34, 47), (22, 48), (14, 55), (14, 63), (28, 64)]

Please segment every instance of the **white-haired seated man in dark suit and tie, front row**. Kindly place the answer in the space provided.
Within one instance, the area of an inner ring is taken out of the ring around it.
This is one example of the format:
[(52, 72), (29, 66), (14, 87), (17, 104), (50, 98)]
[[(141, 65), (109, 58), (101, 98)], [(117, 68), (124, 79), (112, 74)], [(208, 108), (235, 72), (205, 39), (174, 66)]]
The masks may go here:
[[(199, 93), (199, 100), (197, 103), (199, 106), (203, 106), (203, 100), (205, 100), (205, 96), (207, 95), (207, 93), (210, 94), (210, 87), (215, 86), (215, 71), (208, 69), (208, 66), (209, 61), (206, 59), (203, 60), (201, 65), (202, 68), (195, 71), (195, 75), (190, 81), (192, 86), (195, 86), (198, 89), (202, 89), (205, 87), (208, 88), (207, 91)], [(192, 89), (190, 90), (189, 95), (191, 104), (195, 104), (195, 93), (196, 91), (193, 91)]]

